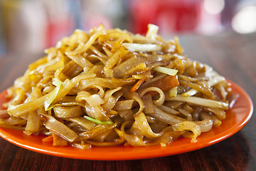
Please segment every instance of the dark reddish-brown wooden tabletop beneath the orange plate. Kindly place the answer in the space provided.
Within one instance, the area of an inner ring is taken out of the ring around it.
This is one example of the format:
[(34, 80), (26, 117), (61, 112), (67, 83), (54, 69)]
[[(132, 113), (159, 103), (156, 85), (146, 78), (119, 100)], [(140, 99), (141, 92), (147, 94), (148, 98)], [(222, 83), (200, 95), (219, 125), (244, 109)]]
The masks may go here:
[[(256, 33), (180, 37), (188, 58), (212, 66), (241, 86), (256, 104)], [(0, 91), (42, 55), (0, 57)], [(255, 112), (254, 112), (255, 114)], [(232, 137), (201, 150), (145, 160), (94, 161), (43, 155), (0, 138), (0, 170), (255, 170), (256, 116)]]

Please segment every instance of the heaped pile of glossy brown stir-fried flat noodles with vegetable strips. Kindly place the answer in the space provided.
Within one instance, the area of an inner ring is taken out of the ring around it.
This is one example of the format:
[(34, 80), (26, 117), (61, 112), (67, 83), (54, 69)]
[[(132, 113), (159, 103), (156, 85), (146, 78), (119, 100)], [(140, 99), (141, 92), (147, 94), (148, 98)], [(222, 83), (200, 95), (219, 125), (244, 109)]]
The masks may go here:
[(0, 126), (82, 149), (196, 142), (225, 119), (230, 85), (158, 29), (149, 24), (146, 36), (102, 25), (76, 30), (8, 89)]

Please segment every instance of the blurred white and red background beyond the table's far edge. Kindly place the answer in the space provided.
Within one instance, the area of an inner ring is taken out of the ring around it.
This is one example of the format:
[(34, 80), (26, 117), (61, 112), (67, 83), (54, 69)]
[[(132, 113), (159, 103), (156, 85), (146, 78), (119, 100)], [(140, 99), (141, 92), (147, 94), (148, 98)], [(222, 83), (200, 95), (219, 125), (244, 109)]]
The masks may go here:
[(75, 28), (104, 24), (161, 36), (256, 31), (255, 0), (0, 0), (0, 56), (42, 53)]

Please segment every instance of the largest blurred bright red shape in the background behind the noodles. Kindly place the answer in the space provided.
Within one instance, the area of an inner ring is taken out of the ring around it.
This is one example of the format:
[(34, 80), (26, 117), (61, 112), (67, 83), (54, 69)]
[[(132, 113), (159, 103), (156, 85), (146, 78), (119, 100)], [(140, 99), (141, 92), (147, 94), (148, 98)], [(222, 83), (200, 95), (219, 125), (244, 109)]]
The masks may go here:
[(130, 30), (146, 33), (156, 24), (162, 33), (195, 31), (201, 20), (201, 0), (132, 0)]

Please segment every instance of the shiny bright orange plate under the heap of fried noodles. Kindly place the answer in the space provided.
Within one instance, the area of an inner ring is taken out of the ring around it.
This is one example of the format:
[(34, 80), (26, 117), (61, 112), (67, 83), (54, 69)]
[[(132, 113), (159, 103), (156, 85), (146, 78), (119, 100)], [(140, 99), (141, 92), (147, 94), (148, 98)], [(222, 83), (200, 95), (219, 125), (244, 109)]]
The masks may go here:
[[(232, 83), (232, 82), (230, 82)], [(86, 160), (135, 160), (151, 157), (177, 155), (183, 152), (198, 150), (216, 142), (229, 138), (242, 129), (252, 116), (252, 100), (245, 90), (232, 83), (233, 93), (240, 95), (232, 110), (228, 110), (227, 118), (218, 128), (213, 128), (207, 133), (202, 133), (197, 142), (188, 138), (179, 138), (166, 147), (160, 145), (151, 147), (92, 147), (90, 150), (80, 150), (75, 147), (53, 147), (49, 142), (42, 142), (44, 136), (25, 135), (19, 130), (0, 128), (0, 136), (5, 140), (35, 152), (60, 157), (69, 157)], [(0, 106), (5, 102), (6, 91), (0, 95)], [(1, 107), (0, 107), (1, 108)]]

